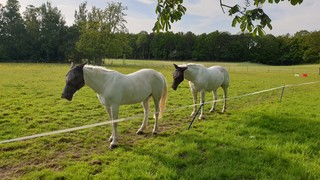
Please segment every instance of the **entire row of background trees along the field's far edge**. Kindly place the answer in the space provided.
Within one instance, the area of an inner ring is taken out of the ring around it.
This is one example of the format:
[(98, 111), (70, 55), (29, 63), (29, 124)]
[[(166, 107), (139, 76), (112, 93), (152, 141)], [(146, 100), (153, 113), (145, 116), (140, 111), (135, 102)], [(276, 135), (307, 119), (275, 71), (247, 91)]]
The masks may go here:
[(122, 3), (105, 9), (81, 3), (67, 26), (50, 2), (29, 5), (20, 14), (19, 2), (0, 4), (0, 61), (80, 62), (100, 64), (104, 58), (256, 62), (293, 65), (320, 62), (320, 31), (294, 35), (252, 36), (214, 31), (128, 33)]

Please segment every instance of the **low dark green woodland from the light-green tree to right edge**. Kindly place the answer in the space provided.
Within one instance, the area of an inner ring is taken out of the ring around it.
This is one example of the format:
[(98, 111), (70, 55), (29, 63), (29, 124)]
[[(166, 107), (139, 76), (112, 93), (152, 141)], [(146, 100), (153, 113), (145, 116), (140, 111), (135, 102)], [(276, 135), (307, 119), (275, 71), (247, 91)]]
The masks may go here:
[(251, 34), (231, 35), (219, 31), (200, 35), (192, 32), (144, 32), (132, 35), (136, 38), (129, 42), (132, 53), (127, 58), (250, 61), (271, 65), (317, 63), (320, 60), (317, 54), (318, 35), (318, 32), (308, 31), (298, 32), (294, 36), (278, 37), (270, 34), (255, 37)]

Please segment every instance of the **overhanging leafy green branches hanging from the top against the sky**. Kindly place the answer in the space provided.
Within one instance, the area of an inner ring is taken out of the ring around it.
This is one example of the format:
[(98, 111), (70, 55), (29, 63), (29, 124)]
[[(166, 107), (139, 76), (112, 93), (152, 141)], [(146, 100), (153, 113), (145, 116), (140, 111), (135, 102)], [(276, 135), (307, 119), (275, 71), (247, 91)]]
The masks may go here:
[[(242, 32), (248, 31), (253, 35), (264, 35), (264, 28), (267, 26), (272, 29), (271, 19), (264, 12), (262, 5), (265, 3), (279, 3), (284, 0), (243, 0), (244, 5), (239, 4), (227, 5), (220, 0), (220, 6), (224, 12), (224, 8), (228, 8), (229, 16), (234, 16), (232, 26), (240, 24)], [(301, 4), (303, 0), (288, 0), (292, 5)], [(251, 4), (253, 3), (253, 8)], [(158, 0), (156, 6), (156, 14), (158, 15), (155, 22), (154, 31), (168, 31), (171, 29), (171, 23), (179, 21), (186, 13), (187, 8), (183, 6), (183, 0)]]

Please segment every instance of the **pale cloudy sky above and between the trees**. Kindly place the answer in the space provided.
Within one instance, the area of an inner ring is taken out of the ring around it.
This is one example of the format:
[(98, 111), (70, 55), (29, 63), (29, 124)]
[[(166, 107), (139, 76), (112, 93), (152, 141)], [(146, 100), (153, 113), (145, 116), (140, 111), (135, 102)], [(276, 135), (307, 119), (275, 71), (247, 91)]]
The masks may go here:
[[(5, 5), (7, 0), (0, 0)], [(224, 0), (229, 5), (234, 5), (244, 0)], [(25, 11), (27, 5), (40, 6), (47, 0), (19, 0), (21, 9)], [(58, 7), (64, 16), (67, 25), (74, 23), (74, 12), (81, 2), (78, 0), (51, 0), (52, 6)], [(88, 9), (92, 6), (104, 9), (109, 0), (87, 0)], [(130, 33), (139, 33), (142, 30), (152, 32), (152, 27), (156, 21), (155, 7), (157, 0), (114, 0), (122, 2), (128, 7), (125, 11), (127, 16), (126, 27)], [(195, 34), (210, 33), (213, 31), (228, 31), (232, 34), (238, 33), (239, 27), (231, 27), (233, 17), (224, 14), (217, 0), (185, 0), (187, 8), (186, 15), (182, 20), (172, 25), (173, 32), (188, 32)], [(272, 19), (273, 29), (268, 34), (283, 35), (294, 33), (300, 30), (319, 31), (320, 30), (320, 0), (304, 0), (297, 6), (292, 6), (288, 1), (280, 4), (265, 4), (265, 12)], [(226, 9), (227, 12), (227, 9)]]

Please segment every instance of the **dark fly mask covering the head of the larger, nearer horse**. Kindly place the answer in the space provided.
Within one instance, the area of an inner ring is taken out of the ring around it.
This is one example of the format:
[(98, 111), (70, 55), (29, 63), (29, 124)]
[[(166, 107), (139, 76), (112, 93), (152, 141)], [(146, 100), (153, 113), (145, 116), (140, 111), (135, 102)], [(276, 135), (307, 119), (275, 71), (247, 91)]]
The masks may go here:
[(71, 70), (66, 75), (66, 86), (63, 89), (61, 98), (65, 98), (71, 101), (74, 93), (84, 86), (84, 65), (85, 64), (81, 64), (75, 67), (71, 67)]

